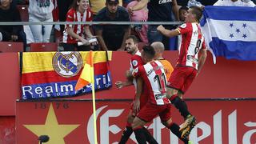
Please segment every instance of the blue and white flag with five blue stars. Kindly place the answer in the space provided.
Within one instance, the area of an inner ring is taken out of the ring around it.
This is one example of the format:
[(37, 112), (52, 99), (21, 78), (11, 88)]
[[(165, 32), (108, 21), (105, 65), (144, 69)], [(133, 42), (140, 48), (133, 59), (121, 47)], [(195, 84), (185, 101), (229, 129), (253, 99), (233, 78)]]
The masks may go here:
[(200, 25), (214, 63), (218, 56), (256, 60), (256, 8), (206, 6)]

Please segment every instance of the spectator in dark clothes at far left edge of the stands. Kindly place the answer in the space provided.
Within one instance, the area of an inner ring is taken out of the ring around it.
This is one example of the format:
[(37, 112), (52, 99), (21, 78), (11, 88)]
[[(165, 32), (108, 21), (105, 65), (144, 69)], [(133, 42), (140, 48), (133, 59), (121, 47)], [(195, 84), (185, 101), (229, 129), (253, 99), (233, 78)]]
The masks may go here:
[[(18, 9), (11, 6), (11, 2), (12, 0), (1, 0), (0, 22), (21, 22)], [(0, 26), (0, 38), (4, 42), (23, 42), (23, 49), (26, 51), (26, 34), (21, 25)]]

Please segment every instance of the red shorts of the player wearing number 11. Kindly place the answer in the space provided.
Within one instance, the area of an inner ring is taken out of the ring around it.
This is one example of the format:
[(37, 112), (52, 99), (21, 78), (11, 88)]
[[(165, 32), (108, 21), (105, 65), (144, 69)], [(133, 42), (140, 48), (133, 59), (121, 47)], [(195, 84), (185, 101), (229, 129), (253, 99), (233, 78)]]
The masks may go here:
[(147, 102), (146, 105), (142, 107), (142, 110), (139, 110), (137, 117), (145, 122), (151, 122), (159, 115), (161, 121), (166, 122), (171, 118), (170, 108), (171, 104), (154, 105)]

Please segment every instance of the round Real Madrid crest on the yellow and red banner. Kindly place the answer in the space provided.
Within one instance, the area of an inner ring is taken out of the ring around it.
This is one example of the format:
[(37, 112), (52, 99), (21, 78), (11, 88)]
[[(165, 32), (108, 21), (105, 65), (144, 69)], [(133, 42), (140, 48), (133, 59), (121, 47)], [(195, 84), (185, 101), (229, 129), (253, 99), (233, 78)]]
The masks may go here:
[(73, 51), (57, 52), (54, 54), (53, 67), (62, 77), (74, 77), (82, 68), (82, 56)]

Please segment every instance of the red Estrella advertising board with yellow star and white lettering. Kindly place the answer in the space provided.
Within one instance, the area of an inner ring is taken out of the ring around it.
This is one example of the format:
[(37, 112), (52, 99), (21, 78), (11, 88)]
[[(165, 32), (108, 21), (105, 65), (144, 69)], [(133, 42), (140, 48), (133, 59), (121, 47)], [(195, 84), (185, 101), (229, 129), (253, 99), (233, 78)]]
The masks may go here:
[[(197, 125), (190, 134), (194, 143), (250, 144), (256, 142), (256, 101), (189, 101)], [(98, 143), (116, 143), (126, 125), (130, 102), (97, 102)], [(174, 122), (181, 116), (173, 108)], [(90, 101), (17, 102), (16, 143), (38, 143), (46, 134), (48, 143), (94, 143)], [(178, 144), (178, 138), (163, 128), (158, 118), (148, 126), (159, 143)], [(128, 143), (135, 143), (134, 134)]]

